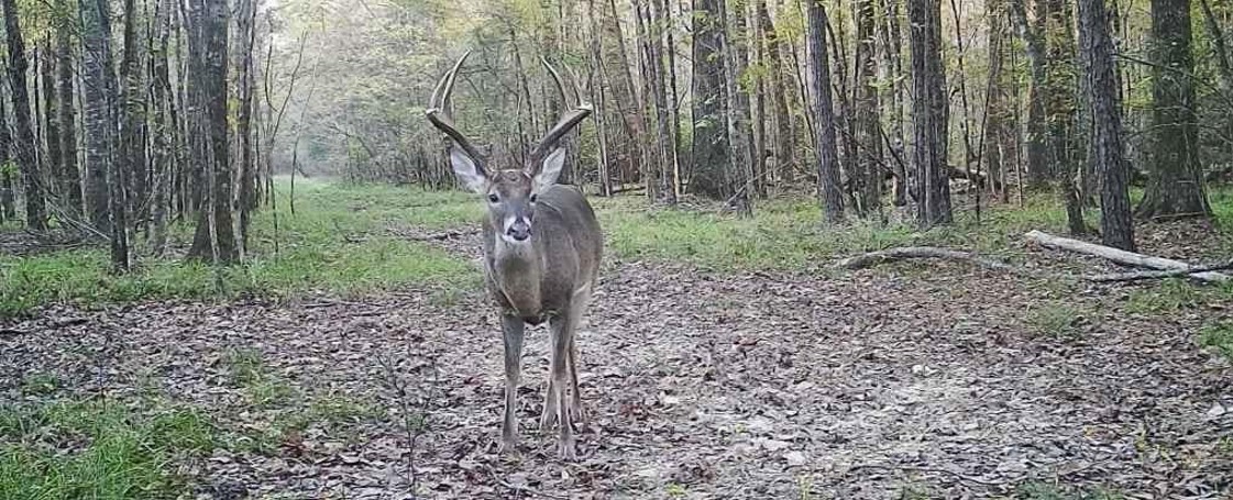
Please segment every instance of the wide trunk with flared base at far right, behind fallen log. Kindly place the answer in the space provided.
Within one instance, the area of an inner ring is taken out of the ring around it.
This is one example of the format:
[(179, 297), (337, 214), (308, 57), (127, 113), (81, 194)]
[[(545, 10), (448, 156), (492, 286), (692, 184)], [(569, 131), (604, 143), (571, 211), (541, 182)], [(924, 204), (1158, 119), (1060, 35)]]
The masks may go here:
[(1190, 0), (1152, 0), (1152, 131), (1141, 217), (1210, 217), (1198, 163)]

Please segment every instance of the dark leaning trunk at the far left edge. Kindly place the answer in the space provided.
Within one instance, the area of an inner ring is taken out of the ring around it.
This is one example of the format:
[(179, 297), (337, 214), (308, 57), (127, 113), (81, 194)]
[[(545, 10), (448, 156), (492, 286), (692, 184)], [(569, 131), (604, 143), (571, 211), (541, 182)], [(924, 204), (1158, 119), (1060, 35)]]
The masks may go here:
[(2, 0), (5, 32), (9, 36), (9, 87), (12, 96), (14, 131), (17, 133), (14, 144), (17, 151), (17, 166), (21, 169), (22, 191), (26, 196), (26, 227), (32, 230), (47, 229), (47, 201), (43, 197), (38, 159), (35, 149), (35, 131), (31, 127), (30, 92), (26, 89), (26, 43), (21, 36), (21, 23), (17, 21), (16, 0)]

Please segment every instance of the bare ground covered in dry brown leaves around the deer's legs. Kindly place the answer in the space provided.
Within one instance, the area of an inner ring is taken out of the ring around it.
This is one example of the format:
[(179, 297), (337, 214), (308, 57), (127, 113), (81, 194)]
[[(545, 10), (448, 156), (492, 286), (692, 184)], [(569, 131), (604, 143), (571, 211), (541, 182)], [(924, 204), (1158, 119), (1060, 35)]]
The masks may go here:
[[(412, 480), (417, 498), (995, 498), (1031, 483), (1229, 498), (1233, 368), (1194, 340), (1228, 304), (1143, 317), (1121, 310), (1124, 288), (1071, 292), (946, 264), (813, 277), (612, 262), (578, 339), (591, 421), (576, 463), (536, 429), (543, 328), (519, 454), (497, 453), (502, 342), (477, 293), (51, 308), (0, 336), (0, 385), (53, 372), (76, 392), (153, 390), (236, 432), (302, 410), (248, 403), (222, 361), (245, 347), (305, 399), (383, 410), (185, 464), (202, 499), (407, 499)], [(1076, 333), (1027, 325), (1044, 303), (1083, 305)], [(413, 450), (404, 413), (424, 416)]]

